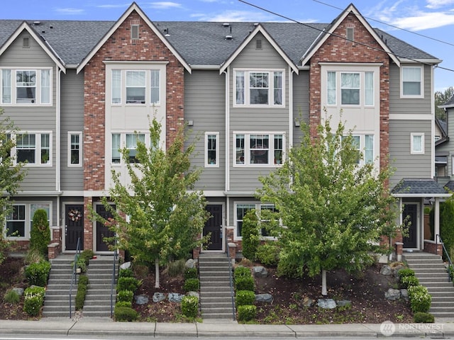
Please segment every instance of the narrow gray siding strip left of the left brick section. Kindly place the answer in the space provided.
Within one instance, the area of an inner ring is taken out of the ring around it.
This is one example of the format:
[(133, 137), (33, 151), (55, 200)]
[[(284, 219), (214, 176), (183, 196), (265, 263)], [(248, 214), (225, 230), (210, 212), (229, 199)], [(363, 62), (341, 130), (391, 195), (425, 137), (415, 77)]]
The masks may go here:
[[(83, 190), (84, 168), (68, 166), (70, 141), (67, 132), (84, 131), (84, 73), (76, 74), (74, 69), (68, 69), (66, 74), (62, 74), (61, 86), (61, 188), (62, 190)], [(83, 154), (84, 145), (82, 144), (82, 159)]]

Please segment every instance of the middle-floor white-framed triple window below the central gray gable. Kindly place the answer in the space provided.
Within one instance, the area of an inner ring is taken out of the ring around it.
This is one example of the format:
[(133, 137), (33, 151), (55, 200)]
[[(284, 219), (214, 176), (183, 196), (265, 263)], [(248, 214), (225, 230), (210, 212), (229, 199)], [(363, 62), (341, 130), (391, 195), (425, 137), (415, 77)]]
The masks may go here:
[(284, 160), (284, 132), (234, 132), (234, 166), (279, 166)]

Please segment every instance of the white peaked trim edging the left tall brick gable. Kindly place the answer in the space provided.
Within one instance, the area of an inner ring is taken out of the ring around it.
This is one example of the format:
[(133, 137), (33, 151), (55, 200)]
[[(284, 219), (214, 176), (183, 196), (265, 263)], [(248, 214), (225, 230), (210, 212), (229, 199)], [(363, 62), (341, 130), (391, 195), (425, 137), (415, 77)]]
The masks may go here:
[(133, 11), (138, 13), (138, 15), (143, 19), (143, 21), (147, 23), (147, 25), (151, 28), (151, 30), (153, 30), (157, 37), (160, 38), (164, 45), (166, 45), (170, 52), (172, 52), (172, 54), (175, 55), (177, 60), (182, 63), (183, 67), (187, 69), (187, 72), (191, 73), (191, 67), (189, 67), (189, 64), (187, 64), (184, 58), (181, 55), (179, 55), (177, 50), (175, 50), (175, 48), (172, 45), (170, 45), (170, 43), (165, 39), (164, 35), (160, 32), (160, 30), (156, 28), (156, 26), (150, 21), (148, 16), (146, 16), (145, 13), (143, 13), (143, 11), (137, 4), (135, 4), (135, 2), (133, 2), (133, 4), (129, 6), (126, 12), (123, 13), (123, 16), (121, 16), (121, 18), (119, 18), (118, 21), (116, 21), (114, 26), (112, 26), (111, 29), (104, 35), (104, 37), (101, 38), (101, 40), (99, 40), (96, 46), (94, 46), (94, 48), (89, 52), (87, 57), (85, 57), (84, 60), (82, 60), (82, 62), (77, 67), (77, 73), (79, 73), (85, 67), (85, 65), (92, 59), (92, 57), (96, 55), (96, 52), (99, 51), (99, 49), (104, 45), (104, 43), (111, 37), (112, 34), (114, 34), (118, 27), (121, 26), (121, 24), (126, 20), (126, 18), (128, 18), (128, 16), (131, 15)]

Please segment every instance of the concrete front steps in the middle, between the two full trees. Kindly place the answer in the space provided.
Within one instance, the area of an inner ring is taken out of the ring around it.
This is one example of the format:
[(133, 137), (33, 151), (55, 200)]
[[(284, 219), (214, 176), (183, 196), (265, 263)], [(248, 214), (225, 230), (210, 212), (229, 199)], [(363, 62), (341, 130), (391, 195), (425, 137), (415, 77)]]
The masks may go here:
[(200, 307), (202, 319), (233, 320), (230, 259), (223, 253), (199, 255)]

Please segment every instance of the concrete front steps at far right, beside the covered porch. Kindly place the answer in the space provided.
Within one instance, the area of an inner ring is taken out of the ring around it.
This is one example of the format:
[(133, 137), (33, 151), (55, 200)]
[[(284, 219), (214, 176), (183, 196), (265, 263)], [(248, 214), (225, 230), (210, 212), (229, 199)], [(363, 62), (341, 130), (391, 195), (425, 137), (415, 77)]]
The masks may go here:
[(434, 317), (454, 317), (454, 285), (441, 256), (424, 252), (405, 253), (409, 268), (413, 269), (419, 283), (432, 295), (429, 312)]

